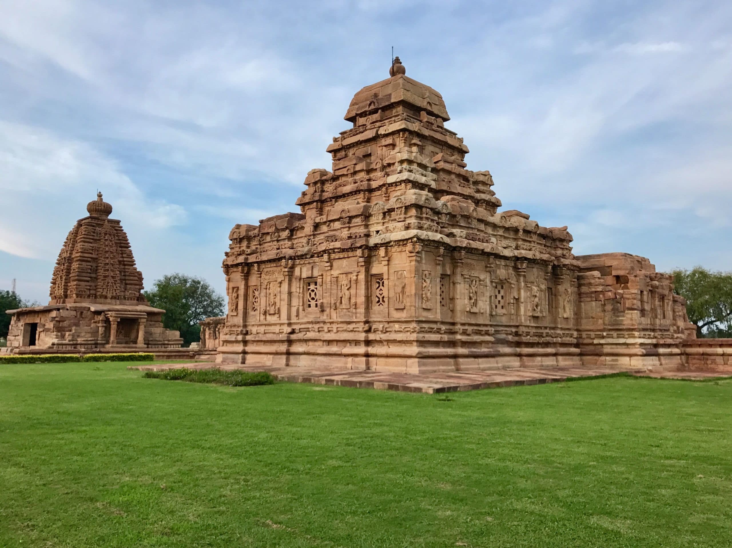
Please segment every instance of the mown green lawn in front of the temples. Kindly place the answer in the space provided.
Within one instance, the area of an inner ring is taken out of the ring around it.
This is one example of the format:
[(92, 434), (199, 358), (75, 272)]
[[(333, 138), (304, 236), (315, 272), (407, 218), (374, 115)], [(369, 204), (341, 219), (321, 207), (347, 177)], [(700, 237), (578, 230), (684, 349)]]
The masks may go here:
[(732, 546), (732, 381), (413, 395), (0, 367), (0, 545)]

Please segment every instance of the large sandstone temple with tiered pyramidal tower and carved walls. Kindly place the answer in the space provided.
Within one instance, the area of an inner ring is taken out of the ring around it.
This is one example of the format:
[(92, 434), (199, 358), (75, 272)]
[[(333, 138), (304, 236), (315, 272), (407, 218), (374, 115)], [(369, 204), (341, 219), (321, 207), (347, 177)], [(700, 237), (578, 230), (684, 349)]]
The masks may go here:
[(575, 256), (567, 227), (498, 212), (442, 96), (399, 58), (389, 75), (354, 96), (353, 127), (326, 149), (331, 170), (307, 174), (300, 213), (231, 230), (219, 362), (681, 365), (695, 328), (670, 276), (640, 256)]

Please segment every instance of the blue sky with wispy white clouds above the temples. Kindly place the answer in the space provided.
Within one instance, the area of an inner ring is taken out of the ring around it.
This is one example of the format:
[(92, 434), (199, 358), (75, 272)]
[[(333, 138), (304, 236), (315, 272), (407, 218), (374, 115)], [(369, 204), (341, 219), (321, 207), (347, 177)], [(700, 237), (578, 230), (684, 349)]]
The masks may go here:
[(732, 2), (0, 0), (0, 289), (45, 303), (97, 189), (146, 286), (297, 210), (351, 97), (444, 96), (504, 209), (575, 254), (732, 270)]

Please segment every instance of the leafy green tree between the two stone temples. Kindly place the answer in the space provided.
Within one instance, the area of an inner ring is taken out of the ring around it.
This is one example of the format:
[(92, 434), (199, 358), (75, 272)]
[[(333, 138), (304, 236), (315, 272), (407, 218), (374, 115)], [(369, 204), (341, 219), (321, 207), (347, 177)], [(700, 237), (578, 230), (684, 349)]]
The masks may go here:
[(199, 321), (224, 313), (224, 298), (202, 278), (167, 274), (144, 294), (150, 305), (165, 310), (163, 325), (179, 331), (186, 346), (201, 340)]

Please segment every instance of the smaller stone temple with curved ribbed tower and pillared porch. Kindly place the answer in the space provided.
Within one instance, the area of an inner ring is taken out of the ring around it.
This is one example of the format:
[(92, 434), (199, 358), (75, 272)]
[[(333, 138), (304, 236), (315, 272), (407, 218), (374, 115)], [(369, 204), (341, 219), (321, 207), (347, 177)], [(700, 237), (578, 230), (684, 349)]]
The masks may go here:
[[(86, 206), (66, 237), (51, 280), (47, 306), (18, 308), (12, 315), (7, 349), (14, 354), (178, 349), (179, 332), (166, 330), (164, 310), (142, 294), (122, 224), (109, 218), (102, 193)], [(97, 350), (98, 351), (98, 350)]]

